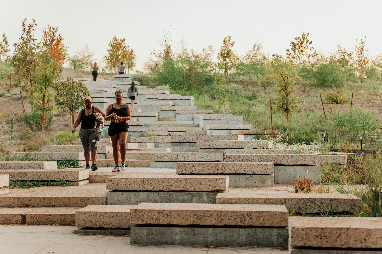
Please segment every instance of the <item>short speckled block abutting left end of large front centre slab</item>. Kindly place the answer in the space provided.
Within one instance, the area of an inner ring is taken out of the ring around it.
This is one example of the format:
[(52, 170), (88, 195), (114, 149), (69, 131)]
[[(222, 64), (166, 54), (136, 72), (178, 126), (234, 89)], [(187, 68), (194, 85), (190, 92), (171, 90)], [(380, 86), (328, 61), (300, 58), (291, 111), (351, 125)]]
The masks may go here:
[(129, 228), (134, 206), (90, 205), (76, 211), (76, 227)]

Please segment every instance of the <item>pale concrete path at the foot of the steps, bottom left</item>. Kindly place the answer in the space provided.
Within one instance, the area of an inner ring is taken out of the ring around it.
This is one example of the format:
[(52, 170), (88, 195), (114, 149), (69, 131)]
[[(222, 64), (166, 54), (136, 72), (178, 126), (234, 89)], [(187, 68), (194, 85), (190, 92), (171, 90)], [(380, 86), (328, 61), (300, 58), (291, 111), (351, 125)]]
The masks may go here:
[(287, 254), (277, 248), (132, 246), (129, 236), (74, 234), (72, 226), (0, 225), (2, 254)]

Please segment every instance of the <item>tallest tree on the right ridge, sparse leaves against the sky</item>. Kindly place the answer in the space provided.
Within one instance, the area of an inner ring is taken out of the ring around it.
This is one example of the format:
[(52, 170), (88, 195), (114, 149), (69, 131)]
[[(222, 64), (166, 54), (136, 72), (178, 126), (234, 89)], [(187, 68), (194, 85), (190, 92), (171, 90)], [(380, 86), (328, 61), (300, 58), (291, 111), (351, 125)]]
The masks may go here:
[(303, 32), (301, 37), (295, 37), (295, 42), (290, 42), (290, 50), (286, 50), (286, 58), (302, 66), (309, 61), (309, 58), (317, 56), (313, 50), (312, 40), (308, 39), (309, 33)]

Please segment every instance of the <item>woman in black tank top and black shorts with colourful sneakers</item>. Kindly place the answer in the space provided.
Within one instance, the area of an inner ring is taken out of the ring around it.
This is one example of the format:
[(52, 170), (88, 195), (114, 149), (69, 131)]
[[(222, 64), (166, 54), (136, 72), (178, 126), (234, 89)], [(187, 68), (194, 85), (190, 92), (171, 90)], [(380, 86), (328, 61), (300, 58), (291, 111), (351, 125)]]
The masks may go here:
[[(113, 158), (115, 167), (112, 172), (120, 172), (126, 170), (125, 158), (126, 158), (126, 141), (129, 131), (129, 125), (126, 121), (131, 119), (130, 107), (126, 103), (122, 103), (123, 94), (121, 91), (117, 91), (114, 94), (115, 103), (110, 104), (106, 109), (105, 119), (110, 119), (110, 125), (107, 134), (112, 140), (113, 146)], [(121, 150), (121, 168), (119, 167), (119, 150)]]

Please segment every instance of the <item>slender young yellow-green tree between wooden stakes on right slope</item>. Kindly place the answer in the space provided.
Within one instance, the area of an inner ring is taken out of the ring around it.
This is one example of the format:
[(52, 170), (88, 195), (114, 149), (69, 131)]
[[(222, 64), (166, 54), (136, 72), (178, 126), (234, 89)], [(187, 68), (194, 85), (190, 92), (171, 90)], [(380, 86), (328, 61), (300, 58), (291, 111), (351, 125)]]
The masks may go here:
[(273, 54), (268, 66), (270, 78), (274, 82), (274, 87), (278, 90), (276, 108), (286, 113), (286, 123), (289, 130), (289, 115), (293, 109), (299, 108), (298, 97), (294, 94), (296, 90), (296, 80), (298, 68), (286, 61), (283, 56)]

